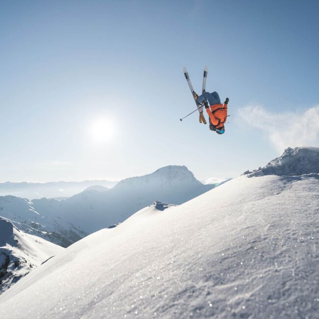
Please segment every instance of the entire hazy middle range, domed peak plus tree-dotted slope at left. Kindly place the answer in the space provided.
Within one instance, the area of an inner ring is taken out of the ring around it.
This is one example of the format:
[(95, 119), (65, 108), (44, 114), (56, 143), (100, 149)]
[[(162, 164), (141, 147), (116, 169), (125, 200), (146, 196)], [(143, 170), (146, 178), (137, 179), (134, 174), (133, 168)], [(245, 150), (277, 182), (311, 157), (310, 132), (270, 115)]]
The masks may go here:
[(18, 229), (66, 247), (124, 221), (155, 201), (178, 205), (213, 187), (196, 180), (186, 166), (166, 166), (152, 174), (122, 180), (111, 189), (88, 186), (63, 200), (0, 196), (0, 216), (10, 219)]

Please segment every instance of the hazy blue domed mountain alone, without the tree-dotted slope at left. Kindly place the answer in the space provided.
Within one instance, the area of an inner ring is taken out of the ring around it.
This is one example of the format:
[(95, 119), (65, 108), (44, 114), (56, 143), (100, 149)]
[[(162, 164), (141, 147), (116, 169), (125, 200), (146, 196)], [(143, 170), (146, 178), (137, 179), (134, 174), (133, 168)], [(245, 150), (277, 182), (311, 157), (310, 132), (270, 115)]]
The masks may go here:
[(42, 198), (32, 204), (37, 212), (59, 216), (93, 233), (124, 221), (156, 200), (178, 205), (213, 187), (197, 181), (186, 166), (166, 166), (125, 179), (108, 191), (83, 191), (64, 201)]

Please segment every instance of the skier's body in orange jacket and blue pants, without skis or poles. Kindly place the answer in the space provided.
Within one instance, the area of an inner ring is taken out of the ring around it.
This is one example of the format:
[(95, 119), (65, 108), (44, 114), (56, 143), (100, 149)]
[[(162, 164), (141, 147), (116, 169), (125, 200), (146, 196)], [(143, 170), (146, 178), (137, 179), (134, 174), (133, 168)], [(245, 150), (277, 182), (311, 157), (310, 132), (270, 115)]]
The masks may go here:
[(229, 99), (226, 98), (224, 105), (220, 103), (220, 98), (217, 92), (205, 92), (200, 96), (195, 96), (196, 102), (206, 108), (209, 115), (210, 130), (217, 134), (225, 133), (224, 123), (227, 119), (227, 106)]

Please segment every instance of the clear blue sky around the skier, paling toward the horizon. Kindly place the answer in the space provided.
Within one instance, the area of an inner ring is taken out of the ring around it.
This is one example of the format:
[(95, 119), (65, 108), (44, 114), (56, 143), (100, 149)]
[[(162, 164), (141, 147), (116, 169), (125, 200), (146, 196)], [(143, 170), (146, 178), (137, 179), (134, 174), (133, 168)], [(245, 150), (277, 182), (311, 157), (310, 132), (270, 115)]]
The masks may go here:
[[(234, 177), (281, 147), (318, 147), (318, 10), (284, 0), (0, 1), (0, 181), (118, 180), (170, 164), (200, 180)], [(195, 106), (183, 66), (199, 92), (206, 64), (207, 90), (230, 99), (222, 136), (196, 113), (179, 121)], [(103, 143), (90, 133), (99, 118), (114, 129)]]

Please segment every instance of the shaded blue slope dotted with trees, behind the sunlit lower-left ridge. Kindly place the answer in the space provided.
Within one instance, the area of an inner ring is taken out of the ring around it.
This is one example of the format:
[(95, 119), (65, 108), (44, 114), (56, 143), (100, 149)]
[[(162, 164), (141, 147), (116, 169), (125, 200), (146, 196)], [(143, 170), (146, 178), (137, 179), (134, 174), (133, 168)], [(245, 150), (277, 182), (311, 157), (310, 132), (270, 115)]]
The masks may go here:
[[(49, 199), (60, 205), (61, 201)], [(86, 236), (79, 227), (63, 216), (43, 214), (35, 210), (26, 198), (0, 196), (0, 216), (8, 218), (18, 229), (66, 247)], [(76, 222), (76, 220), (74, 220)]]

